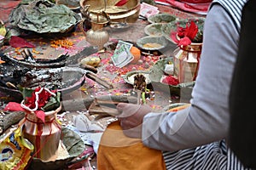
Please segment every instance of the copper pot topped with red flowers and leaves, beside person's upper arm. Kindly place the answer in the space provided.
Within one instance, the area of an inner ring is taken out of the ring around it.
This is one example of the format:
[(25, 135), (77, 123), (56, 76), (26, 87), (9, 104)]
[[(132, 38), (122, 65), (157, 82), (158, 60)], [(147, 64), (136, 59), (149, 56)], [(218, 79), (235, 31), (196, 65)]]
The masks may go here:
[(200, 64), (203, 18), (177, 20), (163, 26), (163, 33), (174, 43), (174, 75), (179, 82), (195, 81)]

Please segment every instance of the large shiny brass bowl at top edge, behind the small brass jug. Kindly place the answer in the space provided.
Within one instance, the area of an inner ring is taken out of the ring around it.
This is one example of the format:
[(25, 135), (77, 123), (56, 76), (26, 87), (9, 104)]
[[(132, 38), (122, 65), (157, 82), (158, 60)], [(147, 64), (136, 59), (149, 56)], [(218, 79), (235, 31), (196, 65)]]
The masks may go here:
[(80, 6), (84, 8), (86, 5), (90, 5), (89, 12), (92, 19), (105, 11), (109, 15), (110, 22), (136, 22), (141, 8), (140, 0), (129, 0), (119, 7), (115, 6), (118, 2), (119, 0), (80, 0)]

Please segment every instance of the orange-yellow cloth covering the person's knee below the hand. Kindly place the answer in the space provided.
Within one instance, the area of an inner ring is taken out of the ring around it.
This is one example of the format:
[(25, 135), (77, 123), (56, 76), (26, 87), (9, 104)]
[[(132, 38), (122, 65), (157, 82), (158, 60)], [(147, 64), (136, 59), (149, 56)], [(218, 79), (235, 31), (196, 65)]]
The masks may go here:
[(119, 122), (108, 125), (97, 151), (98, 170), (166, 170), (160, 150), (143, 145), (141, 139), (125, 136)]

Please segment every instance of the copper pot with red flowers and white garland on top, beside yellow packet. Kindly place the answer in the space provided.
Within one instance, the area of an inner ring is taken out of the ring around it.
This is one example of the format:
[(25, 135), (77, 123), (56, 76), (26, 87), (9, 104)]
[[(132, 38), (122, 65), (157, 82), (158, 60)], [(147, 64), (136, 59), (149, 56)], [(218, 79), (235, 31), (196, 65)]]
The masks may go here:
[(34, 145), (33, 157), (53, 161), (61, 140), (61, 122), (56, 114), (61, 111), (61, 93), (38, 87), (35, 90), (20, 87), (23, 100), (9, 102), (5, 111), (25, 111), (20, 121), (21, 135)]

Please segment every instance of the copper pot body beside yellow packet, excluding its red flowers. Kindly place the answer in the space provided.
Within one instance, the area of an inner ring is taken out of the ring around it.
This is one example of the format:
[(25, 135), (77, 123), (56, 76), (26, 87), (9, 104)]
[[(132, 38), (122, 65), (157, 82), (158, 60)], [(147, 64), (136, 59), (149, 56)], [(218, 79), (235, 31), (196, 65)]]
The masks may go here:
[(56, 119), (61, 106), (45, 112), (44, 122), (34, 112), (26, 112), (21, 124), (22, 136), (34, 145), (34, 157), (52, 161), (57, 157), (61, 140), (61, 122)]

